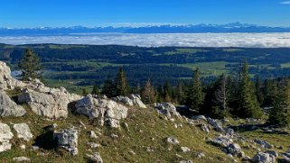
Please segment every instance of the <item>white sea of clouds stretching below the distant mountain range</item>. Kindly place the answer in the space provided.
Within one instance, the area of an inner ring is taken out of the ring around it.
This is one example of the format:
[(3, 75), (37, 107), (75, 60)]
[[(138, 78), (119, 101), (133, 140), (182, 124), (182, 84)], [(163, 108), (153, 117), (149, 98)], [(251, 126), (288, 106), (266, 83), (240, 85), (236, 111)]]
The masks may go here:
[(0, 37), (1, 43), (31, 44), (90, 44), (132, 45), (141, 47), (290, 47), (290, 33), (168, 33), (168, 34), (123, 34), (90, 33), (67, 36), (9, 36)]

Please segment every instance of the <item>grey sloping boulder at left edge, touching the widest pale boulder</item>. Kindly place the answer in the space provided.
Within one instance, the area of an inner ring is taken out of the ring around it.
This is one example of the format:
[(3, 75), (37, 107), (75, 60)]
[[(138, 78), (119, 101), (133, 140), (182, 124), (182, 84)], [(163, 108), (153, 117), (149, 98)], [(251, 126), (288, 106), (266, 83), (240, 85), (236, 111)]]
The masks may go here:
[(0, 91), (0, 116), (20, 117), (26, 113), (21, 105), (17, 105), (5, 92)]

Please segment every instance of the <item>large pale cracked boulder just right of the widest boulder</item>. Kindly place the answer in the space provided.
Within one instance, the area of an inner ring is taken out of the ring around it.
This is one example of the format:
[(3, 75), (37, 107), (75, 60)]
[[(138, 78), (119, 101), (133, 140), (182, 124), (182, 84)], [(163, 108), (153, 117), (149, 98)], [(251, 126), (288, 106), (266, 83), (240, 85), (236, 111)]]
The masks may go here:
[(90, 119), (100, 119), (101, 125), (103, 122), (112, 128), (118, 128), (119, 121), (127, 116), (127, 108), (122, 104), (117, 104), (113, 100), (94, 98), (92, 95), (87, 95), (80, 99), (75, 104), (76, 113), (88, 116)]

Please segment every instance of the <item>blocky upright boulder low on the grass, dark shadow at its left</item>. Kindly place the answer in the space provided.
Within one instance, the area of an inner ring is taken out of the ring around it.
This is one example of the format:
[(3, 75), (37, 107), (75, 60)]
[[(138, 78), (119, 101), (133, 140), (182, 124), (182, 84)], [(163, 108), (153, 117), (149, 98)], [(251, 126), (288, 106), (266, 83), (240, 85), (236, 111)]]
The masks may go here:
[(72, 155), (77, 155), (79, 132), (75, 129), (64, 129), (53, 132), (53, 139), (56, 140), (59, 147), (67, 149)]

